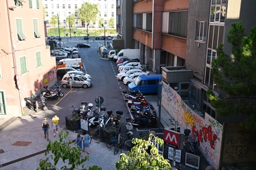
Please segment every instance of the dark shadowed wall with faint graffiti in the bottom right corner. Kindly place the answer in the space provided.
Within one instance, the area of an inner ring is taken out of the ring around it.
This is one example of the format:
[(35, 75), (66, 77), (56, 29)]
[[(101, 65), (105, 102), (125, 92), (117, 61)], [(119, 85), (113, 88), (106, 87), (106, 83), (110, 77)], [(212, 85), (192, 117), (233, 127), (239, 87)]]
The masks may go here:
[(224, 137), (223, 164), (256, 162), (256, 133), (246, 131), (239, 123), (228, 123)]

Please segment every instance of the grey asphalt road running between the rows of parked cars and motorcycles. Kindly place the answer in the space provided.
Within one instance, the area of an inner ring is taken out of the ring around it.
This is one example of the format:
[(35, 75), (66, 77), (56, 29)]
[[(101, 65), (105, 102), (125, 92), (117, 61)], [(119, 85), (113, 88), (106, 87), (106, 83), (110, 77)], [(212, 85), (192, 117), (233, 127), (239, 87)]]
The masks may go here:
[[(104, 43), (104, 42), (103, 42)], [(82, 101), (93, 103), (96, 106), (96, 97), (102, 97), (104, 102), (102, 105), (107, 110), (112, 110), (113, 114), (119, 109), (124, 112), (122, 115), (121, 125), (122, 132), (125, 133), (126, 117), (130, 116), (122, 89), (128, 88), (122, 81), (115, 78), (118, 73), (116, 65), (113, 61), (100, 59), (98, 53), (99, 42), (90, 42), (91, 48), (79, 48), (81, 59), (85, 66), (85, 72), (91, 75), (93, 86), (90, 88), (61, 88), (65, 96), (59, 98), (58, 101), (46, 101), (51, 109), (57, 113), (61, 122), (60, 126), (65, 127), (66, 116), (72, 114), (72, 105), (74, 108), (79, 108)], [(102, 44), (102, 42), (101, 42)], [(76, 43), (67, 43), (66, 45), (76, 46)], [(60, 84), (60, 81), (58, 82)], [(53, 112), (48, 112), (48, 116), (53, 116)]]

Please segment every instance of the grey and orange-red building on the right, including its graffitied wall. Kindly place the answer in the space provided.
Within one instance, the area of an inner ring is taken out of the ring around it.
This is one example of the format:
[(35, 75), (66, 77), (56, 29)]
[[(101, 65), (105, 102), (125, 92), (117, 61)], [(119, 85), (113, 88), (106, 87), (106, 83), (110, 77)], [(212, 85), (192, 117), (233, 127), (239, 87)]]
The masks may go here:
[[(131, 3), (132, 9), (128, 8)], [(239, 148), (255, 147), (247, 141), (230, 141), (252, 135), (239, 125), (241, 119), (218, 118), (206, 96), (209, 87), (216, 95), (222, 95), (214, 83), (212, 58), (218, 57), (218, 44), (224, 44), (225, 54), (231, 55), (231, 44), (226, 37), (232, 22), (242, 21), (250, 33), (256, 24), (255, 3), (253, 0), (117, 0), (117, 32), (126, 42), (125, 48), (139, 48), (141, 63), (154, 73), (162, 73), (162, 106), (179, 126), (197, 135), (201, 154), (215, 169), (256, 161), (255, 152), (238, 156), (232, 149), (234, 143)], [(127, 12), (132, 12), (132, 17)], [(164, 155), (168, 157), (168, 153)]]

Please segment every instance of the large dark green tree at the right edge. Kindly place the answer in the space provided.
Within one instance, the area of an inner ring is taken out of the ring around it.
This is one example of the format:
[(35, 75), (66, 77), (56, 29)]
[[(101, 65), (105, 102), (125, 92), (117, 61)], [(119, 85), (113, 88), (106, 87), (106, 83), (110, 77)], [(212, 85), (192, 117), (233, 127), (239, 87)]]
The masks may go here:
[(227, 35), (232, 45), (232, 55), (223, 52), (223, 44), (218, 46), (218, 58), (213, 60), (214, 82), (223, 90), (224, 95), (216, 96), (210, 90), (211, 105), (219, 116), (242, 114), (246, 129), (256, 128), (256, 26), (250, 35), (241, 22), (232, 24)]

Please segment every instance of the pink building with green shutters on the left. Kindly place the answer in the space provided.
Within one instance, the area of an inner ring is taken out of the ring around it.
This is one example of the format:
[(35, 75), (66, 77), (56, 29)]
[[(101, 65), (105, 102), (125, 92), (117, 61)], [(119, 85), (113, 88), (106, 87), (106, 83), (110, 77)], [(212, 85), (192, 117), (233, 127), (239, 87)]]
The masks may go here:
[(21, 116), (26, 97), (55, 84), (56, 61), (46, 46), (39, 0), (4, 0), (0, 5), (0, 115)]

